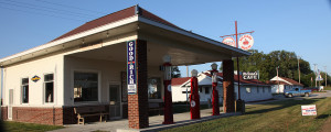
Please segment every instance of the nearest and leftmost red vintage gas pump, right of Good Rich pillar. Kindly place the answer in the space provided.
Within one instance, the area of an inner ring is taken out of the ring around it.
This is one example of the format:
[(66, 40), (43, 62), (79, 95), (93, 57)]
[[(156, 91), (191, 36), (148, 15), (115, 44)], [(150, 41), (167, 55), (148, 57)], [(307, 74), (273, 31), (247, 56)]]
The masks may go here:
[(173, 113), (172, 113), (172, 97), (171, 97), (171, 57), (169, 55), (163, 56), (163, 68), (164, 68), (164, 122), (163, 124), (173, 123)]

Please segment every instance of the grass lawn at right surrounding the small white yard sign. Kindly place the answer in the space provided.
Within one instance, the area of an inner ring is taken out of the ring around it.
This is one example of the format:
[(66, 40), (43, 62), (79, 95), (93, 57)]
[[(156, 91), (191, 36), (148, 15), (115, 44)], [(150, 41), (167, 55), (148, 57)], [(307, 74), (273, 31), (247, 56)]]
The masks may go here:
[[(302, 117), (302, 105), (317, 105), (317, 117)], [(286, 132), (320, 131), (331, 118), (331, 98), (284, 100), (246, 107), (246, 114), (164, 130), (164, 132)]]

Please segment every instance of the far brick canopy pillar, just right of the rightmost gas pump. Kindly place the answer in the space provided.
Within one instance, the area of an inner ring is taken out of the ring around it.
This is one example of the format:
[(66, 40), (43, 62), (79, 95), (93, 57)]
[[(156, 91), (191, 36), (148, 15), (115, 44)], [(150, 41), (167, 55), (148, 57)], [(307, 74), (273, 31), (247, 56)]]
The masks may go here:
[(234, 65), (232, 59), (223, 61), (223, 107), (224, 112), (235, 111), (234, 98)]

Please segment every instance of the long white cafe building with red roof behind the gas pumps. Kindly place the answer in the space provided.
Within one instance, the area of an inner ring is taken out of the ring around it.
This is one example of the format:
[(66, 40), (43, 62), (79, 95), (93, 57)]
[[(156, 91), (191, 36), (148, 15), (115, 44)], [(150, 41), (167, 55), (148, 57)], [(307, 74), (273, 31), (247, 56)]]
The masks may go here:
[[(218, 96), (220, 102), (223, 102), (223, 74), (218, 73)], [(241, 77), (241, 99), (247, 101), (260, 101), (273, 98), (270, 85), (258, 80), (244, 80)], [(186, 101), (190, 96), (190, 77), (172, 79), (172, 101)], [(209, 73), (202, 73), (197, 76), (199, 95), (201, 103), (205, 103), (212, 99), (212, 78)], [(238, 99), (237, 75), (234, 76), (235, 99)], [(188, 94), (186, 94), (188, 91)]]

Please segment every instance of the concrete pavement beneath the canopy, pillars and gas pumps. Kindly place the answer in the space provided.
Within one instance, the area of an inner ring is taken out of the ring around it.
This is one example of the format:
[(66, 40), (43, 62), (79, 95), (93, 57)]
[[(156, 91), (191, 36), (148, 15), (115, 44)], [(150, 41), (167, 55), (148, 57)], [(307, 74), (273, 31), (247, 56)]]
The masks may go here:
[[(223, 109), (223, 108), (220, 108)], [(85, 125), (82, 124), (71, 124), (64, 129), (51, 131), (51, 132), (92, 132), (92, 131), (107, 131), (107, 132), (131, 132), (131, 131), (160, 131), (164, 129), (171, 129), (175, 127), (203, 122), (207, 120), (225, 118), (231, 116), (239, 116), (241, 113), (221, 113), (221, 116), (211, 116), (212, 109), (201, 110), (201, 119), (199, 120), (191, 120), (190, 112), (184, 113), (175, 113), (173, 114), (174, 124), (162, 124), (163, 116), (154, 116), (149, 118), (149, 128), (140, 129), (140, 130), (132, 130), (128, 127), (128, 120), (117, 120), (117, 121), (108, 121), (108, 122), (95, 122), (95, 123), (87, 123)]]

